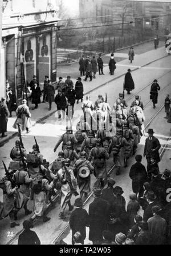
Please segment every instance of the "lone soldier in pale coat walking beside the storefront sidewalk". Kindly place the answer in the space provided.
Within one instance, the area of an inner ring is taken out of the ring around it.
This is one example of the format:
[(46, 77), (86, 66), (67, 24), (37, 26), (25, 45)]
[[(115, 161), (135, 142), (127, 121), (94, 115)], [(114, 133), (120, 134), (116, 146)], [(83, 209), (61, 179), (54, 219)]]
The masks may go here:
[(29, 133), (31, 128), (31, 120), (30, 120), (31, 113), (27, 106), (26, 99), (23, 99), (22, 105), (19, 105), (17, 107), (17, 110), (15, 111), (15, 113), (17, 115), (17, 119), (14, 122), (13, 128), (18, 129), (18, 123), (19, 123), (19, 125), (21, 125), (22, 131), (26, 130), (26, 132)]

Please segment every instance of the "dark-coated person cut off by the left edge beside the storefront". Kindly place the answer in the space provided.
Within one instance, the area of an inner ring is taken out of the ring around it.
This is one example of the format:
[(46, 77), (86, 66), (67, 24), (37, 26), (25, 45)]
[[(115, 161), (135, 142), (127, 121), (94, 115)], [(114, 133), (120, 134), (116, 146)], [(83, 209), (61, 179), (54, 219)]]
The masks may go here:
[(0, 133), (2, 137), (6, 137), (5, 132), (7, 131), (7, 122), (8, 122), (9, 110), (6, 105), (6, 99), (1, 98), (0, 103)]

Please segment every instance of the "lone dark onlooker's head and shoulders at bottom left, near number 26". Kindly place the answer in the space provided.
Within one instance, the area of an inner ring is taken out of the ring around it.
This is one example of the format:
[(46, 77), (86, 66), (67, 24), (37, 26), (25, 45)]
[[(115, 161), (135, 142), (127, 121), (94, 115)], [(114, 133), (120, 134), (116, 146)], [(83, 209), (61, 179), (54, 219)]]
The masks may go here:
[(31, 227), (30, 221), (23, 222), (25, 230), (18, 237), (18, 245), (40, 245), (40, 239), (35, 231), (30, 230)]

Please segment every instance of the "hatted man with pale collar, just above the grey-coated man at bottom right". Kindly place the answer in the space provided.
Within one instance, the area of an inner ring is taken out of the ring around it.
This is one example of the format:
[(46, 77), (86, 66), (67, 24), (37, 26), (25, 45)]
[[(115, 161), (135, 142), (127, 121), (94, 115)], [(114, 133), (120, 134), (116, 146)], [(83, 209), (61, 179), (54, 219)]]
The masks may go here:
[(144, 215), (143, 215), (143, 221), (147, 222), (149, 218), (153, 217), (153, 213), (152, 213), (152, 207), (154, 205), (157, 205), (156, 203), (156, 195), (154, 194), (154, 191), (149, 190), (146, 195), (146, 201), (148, 202), (148, 205), (146, 206), (145, 210), (144, 210)]

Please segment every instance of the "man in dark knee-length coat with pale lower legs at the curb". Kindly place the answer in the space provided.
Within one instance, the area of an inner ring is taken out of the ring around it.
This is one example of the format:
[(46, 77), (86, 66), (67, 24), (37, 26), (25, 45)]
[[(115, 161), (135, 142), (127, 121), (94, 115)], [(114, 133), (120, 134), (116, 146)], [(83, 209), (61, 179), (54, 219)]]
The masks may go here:
[(66, 114), (67, 100), (61, 90), (58, 90), (58, 94), (56, 94), (55, 104), (56, 104), (57, 111), (58, 111), (58, 118), (59, 119), (61, 118), (60, 111), (62, 111), (62, 115), (63, 115), (63, 119), (64, 119), (65, 114)]

